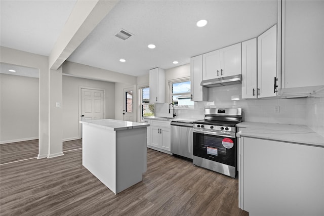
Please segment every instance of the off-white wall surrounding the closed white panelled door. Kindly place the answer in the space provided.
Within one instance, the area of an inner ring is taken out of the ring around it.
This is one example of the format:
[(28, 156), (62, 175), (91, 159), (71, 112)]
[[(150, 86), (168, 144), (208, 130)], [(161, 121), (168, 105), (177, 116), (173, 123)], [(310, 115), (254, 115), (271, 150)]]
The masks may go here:
[(63, 76), (63, 141), (80, 138), (79, 87), (105, 89), (106, 118), (115, 118), (115, 84), (113, 82)]

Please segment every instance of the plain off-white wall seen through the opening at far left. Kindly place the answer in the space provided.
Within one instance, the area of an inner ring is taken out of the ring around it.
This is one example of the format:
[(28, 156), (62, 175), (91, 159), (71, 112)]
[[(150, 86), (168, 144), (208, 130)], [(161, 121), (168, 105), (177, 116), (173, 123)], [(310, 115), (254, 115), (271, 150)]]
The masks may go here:
[(0, 74), (1, 143), (38, 139), (38, 78)]

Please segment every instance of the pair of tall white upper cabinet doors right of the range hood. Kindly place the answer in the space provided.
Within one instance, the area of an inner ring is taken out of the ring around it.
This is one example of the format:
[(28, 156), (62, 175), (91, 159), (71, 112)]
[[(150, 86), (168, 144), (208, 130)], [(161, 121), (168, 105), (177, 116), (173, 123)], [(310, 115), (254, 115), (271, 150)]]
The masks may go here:
[(277, 96), (277, 25), (242, 42), (242, 99)]

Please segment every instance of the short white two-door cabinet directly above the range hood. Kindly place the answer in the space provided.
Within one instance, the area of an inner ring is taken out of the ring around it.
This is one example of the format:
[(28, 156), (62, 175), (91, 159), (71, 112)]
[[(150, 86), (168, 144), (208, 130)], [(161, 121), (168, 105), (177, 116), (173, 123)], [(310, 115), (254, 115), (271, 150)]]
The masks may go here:
[(203, 80), (241, 74), (241, 44), (203, 54)]

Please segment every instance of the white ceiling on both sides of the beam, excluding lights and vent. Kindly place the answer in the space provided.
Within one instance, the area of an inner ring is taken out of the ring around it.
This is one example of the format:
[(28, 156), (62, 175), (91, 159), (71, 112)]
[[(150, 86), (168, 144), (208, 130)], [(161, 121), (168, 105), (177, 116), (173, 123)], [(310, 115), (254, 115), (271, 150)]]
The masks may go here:
[[(1, 46), (48, 56), (74, 5), (1, 0)], [(208, 25), (197, 27), (200, 19)], [(187, 64), (192, 56), (256, 37), (275, 23), (276, 0), (120, 1), (67, 60), (139, 76), (177, 66), (173, 61)], [(134, 35), (115, 37), (121, 29)]]

